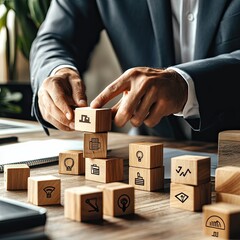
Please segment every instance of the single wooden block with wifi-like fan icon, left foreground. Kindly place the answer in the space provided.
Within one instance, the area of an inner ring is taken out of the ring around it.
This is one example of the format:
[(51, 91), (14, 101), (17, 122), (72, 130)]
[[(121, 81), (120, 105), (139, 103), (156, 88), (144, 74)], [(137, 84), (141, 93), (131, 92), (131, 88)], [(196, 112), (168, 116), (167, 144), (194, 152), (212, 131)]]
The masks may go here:
[(34, 205), (60, 204), (60, 178), (46, 175), (28, 178), (28, 202)]

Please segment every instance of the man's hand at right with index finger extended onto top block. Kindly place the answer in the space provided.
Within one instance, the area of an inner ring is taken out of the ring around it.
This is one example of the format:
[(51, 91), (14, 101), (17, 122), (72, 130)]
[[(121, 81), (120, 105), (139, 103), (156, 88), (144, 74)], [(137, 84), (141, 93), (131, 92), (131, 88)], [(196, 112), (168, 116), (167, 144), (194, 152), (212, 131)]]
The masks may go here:
[(136, 127), (142, 123), (154, 127), (162, 117), (183, 110), (187, 89), (186, 81), (173, 70), (136, 67), (107, 86), (90, 106), (102, 107), (122, 93), (112, 108), (115, 124), (122, 127), (130, 121)]

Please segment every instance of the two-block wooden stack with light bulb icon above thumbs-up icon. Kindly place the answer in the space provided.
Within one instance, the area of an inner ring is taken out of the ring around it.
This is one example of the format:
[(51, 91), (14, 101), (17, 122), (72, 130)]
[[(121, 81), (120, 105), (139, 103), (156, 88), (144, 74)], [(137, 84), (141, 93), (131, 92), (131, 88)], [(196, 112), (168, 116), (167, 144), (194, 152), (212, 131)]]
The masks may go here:
[(162, 143), (129, 144), (129, 184), (145, 191), (164, 188)]

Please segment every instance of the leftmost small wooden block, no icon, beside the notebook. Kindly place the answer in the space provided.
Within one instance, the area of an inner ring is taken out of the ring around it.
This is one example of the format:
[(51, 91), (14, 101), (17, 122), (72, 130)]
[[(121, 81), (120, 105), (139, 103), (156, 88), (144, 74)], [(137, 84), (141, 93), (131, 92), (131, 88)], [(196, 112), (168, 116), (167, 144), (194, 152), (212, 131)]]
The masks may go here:
[(27, 164), (4, 165), (4, 186), (6, 190), (27, 189), (30, 168)]

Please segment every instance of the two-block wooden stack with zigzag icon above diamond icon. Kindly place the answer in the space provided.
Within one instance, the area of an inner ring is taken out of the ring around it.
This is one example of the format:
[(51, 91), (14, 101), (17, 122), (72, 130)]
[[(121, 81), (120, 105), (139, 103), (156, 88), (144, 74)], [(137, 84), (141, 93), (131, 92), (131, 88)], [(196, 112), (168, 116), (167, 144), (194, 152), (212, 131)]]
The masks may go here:
[(210, 158), (183, 155), (171, 159), (170, 206), (201, 211), (211, 203)]

